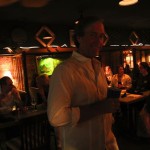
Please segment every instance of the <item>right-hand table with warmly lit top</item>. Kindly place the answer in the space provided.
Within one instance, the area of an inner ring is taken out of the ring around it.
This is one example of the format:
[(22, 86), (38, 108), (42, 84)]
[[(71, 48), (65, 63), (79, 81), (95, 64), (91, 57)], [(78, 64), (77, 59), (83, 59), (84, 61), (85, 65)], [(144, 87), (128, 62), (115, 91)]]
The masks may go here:
[[(130, 94), (123, 98), (119, 98), (121, 104), (122, 124), (129, 131), (135, 133), (137, 129), (137, 117), (140, 109), (144, 106), (146, 99), (149, 97), (150, 91), (143, 92), (142, 95)], [(125, 120), (126, 119), (126, 120)]]

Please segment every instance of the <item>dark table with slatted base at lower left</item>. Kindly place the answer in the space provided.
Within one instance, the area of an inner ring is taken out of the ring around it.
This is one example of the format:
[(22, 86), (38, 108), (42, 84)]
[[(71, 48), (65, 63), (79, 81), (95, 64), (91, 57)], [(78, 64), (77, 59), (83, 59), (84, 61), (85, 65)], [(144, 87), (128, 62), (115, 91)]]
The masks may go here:
[(21, 150), (50, 149), (51, 135), (55, 134), (49, 125), (46, 107), (40, 106), (36, 111), (29, 108), (9, 114), (8, 120), (0, 123), (0, 133), (6, 134), (6, 141), (19, 137)]

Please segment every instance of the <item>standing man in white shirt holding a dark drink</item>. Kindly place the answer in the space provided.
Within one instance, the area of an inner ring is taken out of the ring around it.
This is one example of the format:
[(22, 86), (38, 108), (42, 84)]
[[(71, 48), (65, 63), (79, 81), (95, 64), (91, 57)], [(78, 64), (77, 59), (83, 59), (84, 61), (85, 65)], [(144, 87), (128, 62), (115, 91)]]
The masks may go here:
[(95, 59), (104, 41), (104, 25), (96, 17), (81, 20), (76, 31), (77, 51), (51, 77), (48, 118), (57, 129), (62, 150), (118, 150), (111, 130), (117, 99), (106, 99), (107, 81)]

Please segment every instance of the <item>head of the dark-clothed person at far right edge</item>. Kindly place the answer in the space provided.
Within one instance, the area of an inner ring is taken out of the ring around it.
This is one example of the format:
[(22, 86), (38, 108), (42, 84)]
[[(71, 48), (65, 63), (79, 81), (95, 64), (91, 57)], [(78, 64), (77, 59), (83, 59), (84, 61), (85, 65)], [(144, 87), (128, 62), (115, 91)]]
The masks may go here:
[(139, 64), (139, 70), (143, 76), (150, 74), (150, 67), (149, 67), (148, 63), (146, 63), (146, 62), (141, 62)]

